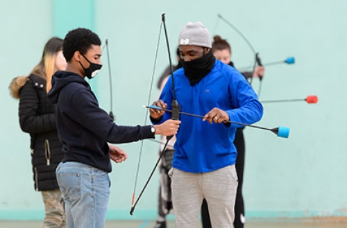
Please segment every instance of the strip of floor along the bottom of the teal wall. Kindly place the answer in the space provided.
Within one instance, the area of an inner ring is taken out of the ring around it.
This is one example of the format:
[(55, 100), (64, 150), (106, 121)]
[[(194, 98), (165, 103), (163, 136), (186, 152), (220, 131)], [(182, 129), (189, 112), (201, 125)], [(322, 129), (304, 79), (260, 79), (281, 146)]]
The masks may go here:
[[(105, 228), (153, 228), (154, 221), (108, 220)], [(12, 221), (0, 220), (1, 228), (38, 228), (41, 221)], [(347, 227), (347, 219), (310, 219), (310, 220), (273, 220), (249, 221), (245, 228), (342, 228)], [(167, 228), (175, 228), (175, 222), (169, 221)]]

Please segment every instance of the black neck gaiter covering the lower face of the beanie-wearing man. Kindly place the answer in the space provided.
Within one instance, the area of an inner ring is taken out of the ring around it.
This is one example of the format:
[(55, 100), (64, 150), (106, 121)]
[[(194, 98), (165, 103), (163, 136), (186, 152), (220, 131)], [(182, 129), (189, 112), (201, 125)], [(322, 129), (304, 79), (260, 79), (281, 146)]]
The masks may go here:
[(209, 51), (201, 58), (192, 61), (180, 60), (180, 63), (185, 69), (185, 76), (189, 79), (190, 85), (193, 86), (210, 73), (215, 61), (212, 51)]

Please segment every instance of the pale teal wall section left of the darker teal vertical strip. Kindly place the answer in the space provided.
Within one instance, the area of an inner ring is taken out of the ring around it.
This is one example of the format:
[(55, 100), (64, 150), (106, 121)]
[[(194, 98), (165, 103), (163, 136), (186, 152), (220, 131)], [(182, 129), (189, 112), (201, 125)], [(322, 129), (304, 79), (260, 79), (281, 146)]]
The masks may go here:
[(33, 188), (30, 139), (19, 128), (18, 100), (10, 97), (8, 85), (12, 78), (28, 74), (40, 60), (53, 32), (51, 1), (2, 2), (0, 21), (0, 218), (20, 218), (22, 213), (10, 216), (8, 211), (30, 213), (42, 209), (43, 203)]

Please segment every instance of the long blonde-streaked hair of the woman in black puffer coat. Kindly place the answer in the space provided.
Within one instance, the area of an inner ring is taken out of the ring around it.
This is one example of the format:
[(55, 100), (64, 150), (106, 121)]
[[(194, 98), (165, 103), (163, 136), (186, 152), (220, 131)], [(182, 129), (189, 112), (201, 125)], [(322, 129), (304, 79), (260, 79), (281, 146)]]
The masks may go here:
[(62, 39), (58, 37), (51, 38), (44, 46), (39, 64), (31, 71), (31, 74), (35, 74), (46, 80), (47, 93), (52, 87), (51, 80), (53, 73), (56, 71), (56, 55), (59, 51), (62, 51)]

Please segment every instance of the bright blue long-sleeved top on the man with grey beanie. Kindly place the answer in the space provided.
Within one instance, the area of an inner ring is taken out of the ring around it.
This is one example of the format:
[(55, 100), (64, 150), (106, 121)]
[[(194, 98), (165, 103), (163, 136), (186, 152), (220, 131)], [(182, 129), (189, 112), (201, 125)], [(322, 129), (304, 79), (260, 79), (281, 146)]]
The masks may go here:
[[(230, 121), (238, 123), (252, 124), (262, 118), (262, 104), (244, 76), (219, 60), (196, 85), (189, 85), (183, 68), (174, 72), (174, 82), (176, 99), (182, 112), (204, 116), (217, 107), (228, 113)], [(170, 77), (160, 95), (160, 99), (167, 103), (167, 109), (171, 109), (172, 89)], [(166, 112), (158, 123), (170, 118), (171, 113)], [(174, 168), (204, 173), (235, 164), (237, 151), (233, 141), (236, 128), (240, 125), (210, 124), (185, 115), (180, 115), (180, 121), (174, 145)]]

